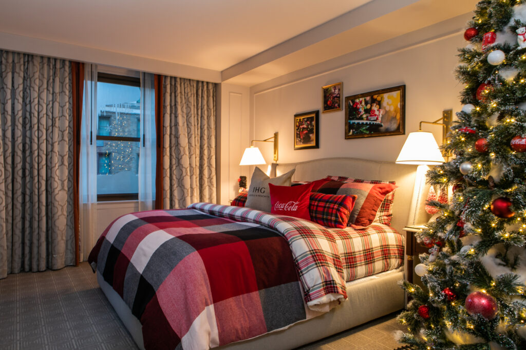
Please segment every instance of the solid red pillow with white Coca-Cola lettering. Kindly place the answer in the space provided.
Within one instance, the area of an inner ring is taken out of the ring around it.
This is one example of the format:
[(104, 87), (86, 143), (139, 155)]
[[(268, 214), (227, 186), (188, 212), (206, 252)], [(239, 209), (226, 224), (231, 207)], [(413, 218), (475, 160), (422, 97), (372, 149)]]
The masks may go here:
[(312, 184), (299, 186), (276, 186), (268, 184), (270, 189), (270, 213), (294, 216), (310, 220), (309, 199)]

